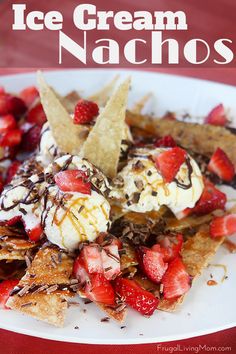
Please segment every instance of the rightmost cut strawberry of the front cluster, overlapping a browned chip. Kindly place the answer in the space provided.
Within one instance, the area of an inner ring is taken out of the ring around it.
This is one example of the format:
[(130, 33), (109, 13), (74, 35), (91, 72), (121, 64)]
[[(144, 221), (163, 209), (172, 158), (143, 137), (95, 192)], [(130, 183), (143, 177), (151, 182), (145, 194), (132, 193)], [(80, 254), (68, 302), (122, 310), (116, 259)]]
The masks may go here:
[(162, 279), (164, 299), (174, 299), (190, 289), (190, 277), (181, 258), (175, 258)]

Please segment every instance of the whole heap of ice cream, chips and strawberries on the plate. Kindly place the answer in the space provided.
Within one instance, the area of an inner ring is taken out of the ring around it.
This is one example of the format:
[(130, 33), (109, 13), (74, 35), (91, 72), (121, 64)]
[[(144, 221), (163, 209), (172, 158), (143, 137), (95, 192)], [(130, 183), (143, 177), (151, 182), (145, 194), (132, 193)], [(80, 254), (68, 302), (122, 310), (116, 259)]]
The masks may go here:
[(117, 81), (87, 98), (40, 72), (39, 91), (1, 89), (1, 308), (58, 327), (76, 296), (118, 322), (174, 311), (236, 232), (223, 105), (204, 125), (153, 119)]

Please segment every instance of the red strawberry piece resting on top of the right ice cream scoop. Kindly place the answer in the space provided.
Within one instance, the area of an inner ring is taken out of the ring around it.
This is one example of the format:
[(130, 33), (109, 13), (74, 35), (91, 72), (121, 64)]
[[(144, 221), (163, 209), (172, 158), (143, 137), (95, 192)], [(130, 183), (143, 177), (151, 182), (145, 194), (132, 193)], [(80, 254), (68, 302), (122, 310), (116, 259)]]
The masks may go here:
[(185, 159), (186, 151), (179, 147), (166, 150), (156, 157), (157, 169), (167, 183), (173, 181)]

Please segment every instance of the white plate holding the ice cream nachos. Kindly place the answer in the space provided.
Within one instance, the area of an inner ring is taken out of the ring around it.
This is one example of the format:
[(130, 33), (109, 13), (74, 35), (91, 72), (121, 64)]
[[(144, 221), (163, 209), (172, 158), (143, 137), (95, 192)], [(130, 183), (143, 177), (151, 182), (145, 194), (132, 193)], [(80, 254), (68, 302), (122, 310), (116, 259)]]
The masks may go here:
[[(69, 70), (47, 73), (52, 86), (66, 93), (71, 89), (83, 89), (84, 94), (98, 90), (117, 71), (111, 70)], [(162, 114), (166, 110), (188, 111), (194, 116), (206, 115), (212, 107), (222, 102), (230, 108), (230, 115), (236, 117), (236, 89), (234, 87), (207, 81), (181, 78), (155, 73), (119, 71), (122, 77), (132, 75), (130, 102), (138, 100), (147, 92), (153, 92), (152, 111)], [(34, 74), (1, 77), (0, 85), (18, 92), (21, 88), (35, 84)], [(236, 153), (236, 152), (235, 152)], [(230, 197), (236, 193), (230, 191)], [(210, 267), (196, 280), (184, 304), (173, 314), (156, 312), (151, 318), (144, 318), (129, 310), (126, 328), (112, 321), (102, 323), (104, 317), (93, 304), (70, 307), (65, 328), (53, 328), (14, 311), (0, 310), (0, 327), (36, 337), (65, 342), (92, 344), (139, 344), (164, 342), (190, 338), (217, 332), (236, 325), (236, 271), (235, 258), (223, 247), (212, 264), (224, 264), (228, 279), (220, 282), (221, 268)], [(208, 286), (210, 273), (219, 282)], [(84, 309), (87, 311), (85, 312)], [(78, 326), (79, 329), (74, 327)]]

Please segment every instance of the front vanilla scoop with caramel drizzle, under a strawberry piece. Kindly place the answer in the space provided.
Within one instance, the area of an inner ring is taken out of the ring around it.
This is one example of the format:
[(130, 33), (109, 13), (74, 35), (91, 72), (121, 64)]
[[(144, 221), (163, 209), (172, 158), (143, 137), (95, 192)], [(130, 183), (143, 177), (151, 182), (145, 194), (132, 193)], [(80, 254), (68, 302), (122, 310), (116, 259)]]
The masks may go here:
[(110, 225), (110, 204), (106, 199), (110, 187), (106, 177), (87, 160), (65, 155), (45, 170), (78, 169), (89, 176), (91, 194), (63, 192), (57, 185), (48, 189), (41, 200), (43, 223), (47, 238), (61, 248), (70, 251), (82, 241), (94, 241), (99, 233), (106, 232)]

